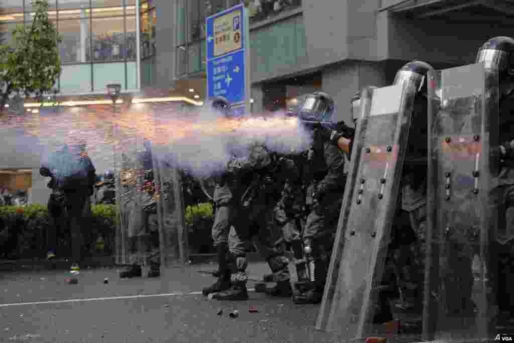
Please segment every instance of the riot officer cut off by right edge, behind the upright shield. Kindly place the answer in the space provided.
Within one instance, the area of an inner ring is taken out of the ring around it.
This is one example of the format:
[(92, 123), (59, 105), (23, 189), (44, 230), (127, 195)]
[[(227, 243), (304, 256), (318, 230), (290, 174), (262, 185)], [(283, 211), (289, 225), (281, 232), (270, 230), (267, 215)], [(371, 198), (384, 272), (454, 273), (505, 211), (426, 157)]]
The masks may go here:
[[(497, 327), (506, 326), (514, 318), (514, 39), (495, 37), (480, 48), (476, 63), (483, 63), (499, 77), (499, 145), (492, 154), (499, 166), (499, 175), (492, 190), (499, 205), (498, 223), (489, 237), (488, 276), (499, 306), (495, 317)], [(487, 260), (487, 259), (486, 259)], [(470, 296), (470, 295), (469, 295)]]

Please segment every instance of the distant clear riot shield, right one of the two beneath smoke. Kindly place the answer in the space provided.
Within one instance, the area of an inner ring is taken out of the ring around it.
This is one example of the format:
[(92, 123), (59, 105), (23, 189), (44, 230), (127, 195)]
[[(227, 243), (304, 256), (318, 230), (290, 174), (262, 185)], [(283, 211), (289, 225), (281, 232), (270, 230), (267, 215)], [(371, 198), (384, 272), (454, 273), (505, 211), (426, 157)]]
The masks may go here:
[(189, 260), (189, 244), (182, 186), (178, 169), (166, 160), (165, 150), (159, 147), (153, 155), (160, 261), (163, 267), (183, 266)]

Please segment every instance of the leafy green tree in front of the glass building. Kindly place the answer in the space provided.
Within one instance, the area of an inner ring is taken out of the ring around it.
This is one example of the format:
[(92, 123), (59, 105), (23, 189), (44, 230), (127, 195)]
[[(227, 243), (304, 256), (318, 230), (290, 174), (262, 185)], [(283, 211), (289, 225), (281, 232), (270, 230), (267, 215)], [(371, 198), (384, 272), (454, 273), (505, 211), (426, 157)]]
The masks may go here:
[(35, 0), (31, 25), (18, 25), (12, 42), (0, 46), (0, 112), (12, 93), (42, 98), (61, 73), (56, 27), (48, 19), (48, 0)]

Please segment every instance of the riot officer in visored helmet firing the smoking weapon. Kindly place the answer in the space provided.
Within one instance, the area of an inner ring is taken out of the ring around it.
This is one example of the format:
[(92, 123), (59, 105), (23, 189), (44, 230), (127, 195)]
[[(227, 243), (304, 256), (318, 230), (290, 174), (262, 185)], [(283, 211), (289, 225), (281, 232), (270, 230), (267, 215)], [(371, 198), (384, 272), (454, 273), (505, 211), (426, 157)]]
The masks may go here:
[[(313, 124), (330, 121), (334, 112), (332, 97), (316, 92), (305, 98), (298, 117), (314, 129)], [(299, 276), (298, 292), (292, 298), (297, 304), (318, 303), (322, 299), (345, 184), (344, 155), (322, 139), (320, 133), (316, 129), (313, 131), (314, 143), (308, 151), (304, 172), (309, 214), (302, 240), (309, 279)]]

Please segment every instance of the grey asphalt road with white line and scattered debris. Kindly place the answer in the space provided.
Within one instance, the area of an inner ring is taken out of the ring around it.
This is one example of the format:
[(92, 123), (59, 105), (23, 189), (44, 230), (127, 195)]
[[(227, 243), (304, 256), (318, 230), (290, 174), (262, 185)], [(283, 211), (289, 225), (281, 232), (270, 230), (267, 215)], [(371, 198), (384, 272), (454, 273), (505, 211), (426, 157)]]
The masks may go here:
[[(0, 342), (338, 341), (315, 330), (318, 305), (254, 292), (247, 301), (205, 298), (201, 287), (215, 279), (200, 269), (213, 266), (172, 268), (159, 279), (131, 280), (120, 280), (115, 269), (83, 270), (76, 285), (65, 281), (64, 271), (4, 273)], [(269, 272), (263, 263), (249, 270), (252, 279)], [(250, 313), (250, 306), (260, 312)], [(232, 310), (239, 311), (237, 318), (229, 317)]]

